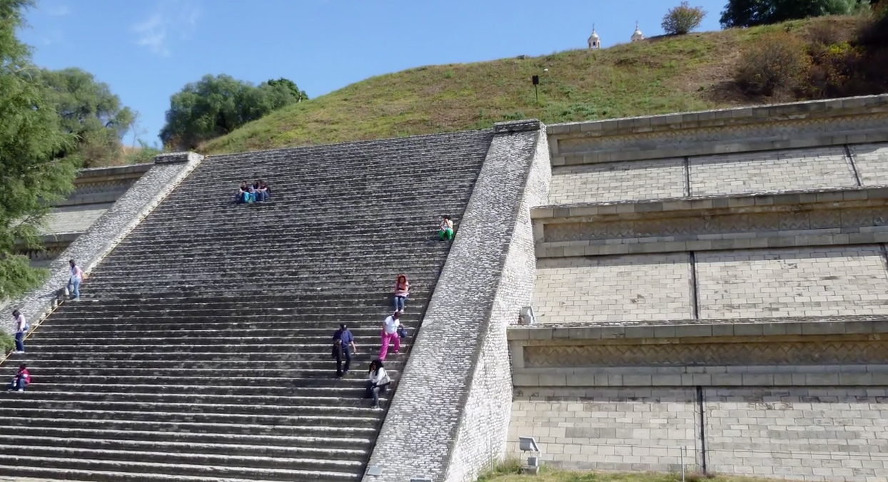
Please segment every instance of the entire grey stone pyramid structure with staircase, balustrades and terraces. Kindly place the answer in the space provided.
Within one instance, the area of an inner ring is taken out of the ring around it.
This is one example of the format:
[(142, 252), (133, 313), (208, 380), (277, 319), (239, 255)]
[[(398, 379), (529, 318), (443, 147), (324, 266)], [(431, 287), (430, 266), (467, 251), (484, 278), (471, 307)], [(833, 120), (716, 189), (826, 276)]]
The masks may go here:
[[(273, 201), (230, 204), (253, 178)], [(0, 394), (0, 477), (472, 482), (532, 437), (555, 467), (881, 482), (886, 245), (888, 95), (164, 154), (12, 300), (36, 329), (0, 371), (34, 383)]]

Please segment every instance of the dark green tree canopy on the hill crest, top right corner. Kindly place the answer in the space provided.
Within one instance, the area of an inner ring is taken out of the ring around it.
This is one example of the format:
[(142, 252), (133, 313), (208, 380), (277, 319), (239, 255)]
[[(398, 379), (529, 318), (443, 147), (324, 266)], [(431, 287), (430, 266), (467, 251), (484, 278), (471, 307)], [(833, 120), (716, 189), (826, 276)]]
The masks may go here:
[(719, 21), (723, 28), (755, 27), (823, 15), (847, 15), (875, 3), (871, 0), (728, 0)]

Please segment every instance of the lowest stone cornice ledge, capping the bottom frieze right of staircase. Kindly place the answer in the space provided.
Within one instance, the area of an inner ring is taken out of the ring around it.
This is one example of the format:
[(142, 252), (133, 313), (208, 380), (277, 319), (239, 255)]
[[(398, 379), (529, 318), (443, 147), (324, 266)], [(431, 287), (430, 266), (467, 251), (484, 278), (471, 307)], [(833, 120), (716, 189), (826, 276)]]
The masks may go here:
[(627, 322), (622, 325), (591, 323), (511, 326), (510, 342), (520, 344), (576, 344), (596, 340), (646, 339), (649, 343), (683, 343), (683, 338), (713, 336), (813, 336), (888, 334), (888, 318), (884, 316), (840, 316), (822, 318), (764, 318), (725, 320), (670, 320)]

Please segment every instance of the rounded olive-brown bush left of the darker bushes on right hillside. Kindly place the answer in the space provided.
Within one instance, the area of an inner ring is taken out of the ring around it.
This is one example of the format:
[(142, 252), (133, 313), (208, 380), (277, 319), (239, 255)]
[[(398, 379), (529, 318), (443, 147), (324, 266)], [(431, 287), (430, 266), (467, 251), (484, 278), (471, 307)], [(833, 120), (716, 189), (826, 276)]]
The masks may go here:
[(758, 37), (741, 52), (734, 81), (750, 95), (796, 91), (811, 66), (805, 41), (788, 32)]

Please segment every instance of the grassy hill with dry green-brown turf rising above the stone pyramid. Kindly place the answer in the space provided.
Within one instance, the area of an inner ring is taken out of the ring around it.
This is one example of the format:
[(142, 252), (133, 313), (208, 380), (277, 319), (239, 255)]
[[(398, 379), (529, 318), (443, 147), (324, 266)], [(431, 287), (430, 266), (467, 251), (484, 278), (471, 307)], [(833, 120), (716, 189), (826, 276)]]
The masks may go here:
[[(654, 37), (600, 51), (412, 68), (286, 107), (200, 150), (231, 153), (479, 129), (520, 118), (555, 123), (773, 102), (749, 99), (733, 85), (744, 45), (774, 31), (804, 36), (824, 22), (851, 32), (860, 19), (798, 20)], [(531, 75), (540, 75), (539, 103)]]

